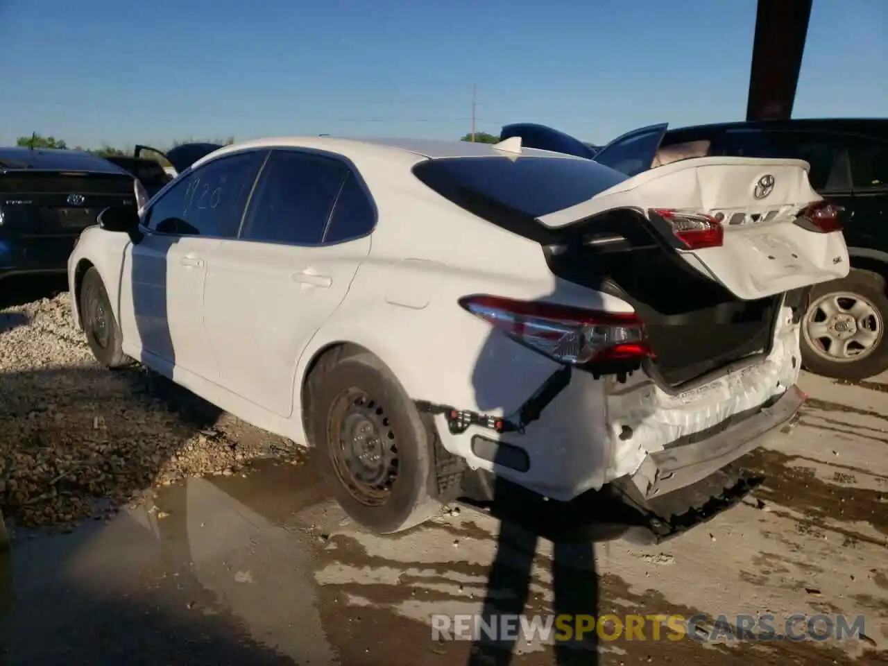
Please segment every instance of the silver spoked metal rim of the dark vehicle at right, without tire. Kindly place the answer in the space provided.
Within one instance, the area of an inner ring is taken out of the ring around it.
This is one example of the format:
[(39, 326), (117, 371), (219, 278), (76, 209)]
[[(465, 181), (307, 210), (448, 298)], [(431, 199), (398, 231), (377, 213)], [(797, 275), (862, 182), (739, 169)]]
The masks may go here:
[(860, 294), (836, 291), (811, 304), (803, 333), (813, 351), (828, 361), (860, 361), (882, 341), (882, 316)]

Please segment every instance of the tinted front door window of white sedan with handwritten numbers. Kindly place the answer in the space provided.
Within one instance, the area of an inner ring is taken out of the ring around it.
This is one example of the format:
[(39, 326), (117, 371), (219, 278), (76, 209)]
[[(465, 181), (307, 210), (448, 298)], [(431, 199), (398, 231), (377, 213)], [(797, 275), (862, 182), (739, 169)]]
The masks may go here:
[(233, 237), (265, 155), (230, 155), (187, 174), (148, 211), (148, 228), (163, 234)]

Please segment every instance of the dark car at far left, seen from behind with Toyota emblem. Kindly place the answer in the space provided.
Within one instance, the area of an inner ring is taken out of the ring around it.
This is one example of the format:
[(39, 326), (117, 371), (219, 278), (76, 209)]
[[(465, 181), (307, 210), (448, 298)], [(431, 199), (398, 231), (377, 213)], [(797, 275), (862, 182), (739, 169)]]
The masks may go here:
[(138, 208), (136, 181), (75, 150), (0, 147), (0, 281), (64, 273), (77, 237), (107, 207)]

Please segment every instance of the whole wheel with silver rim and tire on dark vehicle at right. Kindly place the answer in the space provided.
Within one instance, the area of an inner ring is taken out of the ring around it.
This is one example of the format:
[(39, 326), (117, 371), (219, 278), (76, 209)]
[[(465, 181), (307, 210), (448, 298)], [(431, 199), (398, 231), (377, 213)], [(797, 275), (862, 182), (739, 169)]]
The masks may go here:
[(888, 297), (884, 278), (852, 270), (842, 280), (811, 290), (802, 320), (805, 369), (836, 379), (859, 380), (888, 369)]

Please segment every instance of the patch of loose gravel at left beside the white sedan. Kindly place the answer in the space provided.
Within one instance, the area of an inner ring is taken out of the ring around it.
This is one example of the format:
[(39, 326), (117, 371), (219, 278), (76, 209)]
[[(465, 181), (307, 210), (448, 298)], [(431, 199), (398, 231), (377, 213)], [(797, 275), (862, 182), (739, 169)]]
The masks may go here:
[(0, 423), (0, 511), (25, 527), (74, 527), (151, 486), (300, 455), (138, 365), (100, 368), (67, 292), (0, 311)]

